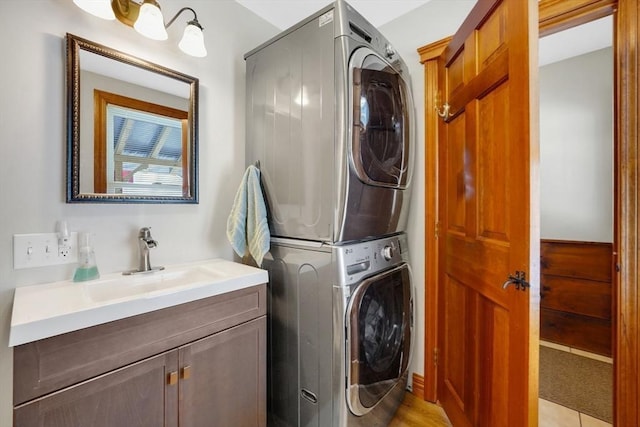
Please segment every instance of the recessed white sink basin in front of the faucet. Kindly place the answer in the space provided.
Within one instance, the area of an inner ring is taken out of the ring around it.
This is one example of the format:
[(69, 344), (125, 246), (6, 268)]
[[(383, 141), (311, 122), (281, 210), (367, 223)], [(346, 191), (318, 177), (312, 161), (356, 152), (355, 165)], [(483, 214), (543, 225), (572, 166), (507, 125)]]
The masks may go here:
[(176, 270), (151, 271), (132, 276), (110, 277), (86, 282), (85, 295), (93, 302), (106, 302), (123, 298), (152, 298), (223, 279), (223, 272), (204, 266)]

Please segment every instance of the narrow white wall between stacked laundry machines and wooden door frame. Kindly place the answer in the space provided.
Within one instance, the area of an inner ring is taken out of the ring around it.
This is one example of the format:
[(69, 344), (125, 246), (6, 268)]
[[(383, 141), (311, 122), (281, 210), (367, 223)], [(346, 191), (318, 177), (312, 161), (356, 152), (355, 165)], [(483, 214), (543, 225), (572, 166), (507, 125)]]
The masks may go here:
[[(424, 375), (424, 221), (425, 221), (425, 149), (424, 149), (424, 69), (417, 49), (453, 35), (469, 14), (475, 0), (431, 0), (420, 8), (380, 27), (409, 67), (416, 105), (417, 147), (407, 234), (413, 279), (416, 287), (416, 346), (411, 373)], [(410, 378), (411, 378), (410, 373)]]

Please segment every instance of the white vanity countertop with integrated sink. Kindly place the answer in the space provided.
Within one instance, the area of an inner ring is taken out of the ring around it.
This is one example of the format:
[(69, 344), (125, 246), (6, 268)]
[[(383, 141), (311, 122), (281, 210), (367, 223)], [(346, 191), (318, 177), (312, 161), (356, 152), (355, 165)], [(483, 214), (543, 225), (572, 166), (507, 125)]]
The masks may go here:
[(16, 288), (9, 347), (266, 283), (266, 270), (223, 259), (86, 282)]

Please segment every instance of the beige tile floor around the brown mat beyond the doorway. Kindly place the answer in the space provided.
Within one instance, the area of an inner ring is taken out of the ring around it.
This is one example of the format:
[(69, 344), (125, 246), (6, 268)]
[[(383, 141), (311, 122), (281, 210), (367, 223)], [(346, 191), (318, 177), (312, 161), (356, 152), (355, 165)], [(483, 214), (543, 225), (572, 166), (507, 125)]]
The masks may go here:
[[(610, 357), (588, 353), (575, 348), (566, 347), (546, 341), (540, 341), (540, 345), (579, 354), (601, 362), (613, 363)], [(612, 427), (611, 424), (601, 421), (589, 415), (581, 414), (573, 409), (560, 406), (556, 403), (540, 399), (538, 408), (538, 424), (540, 427)]]

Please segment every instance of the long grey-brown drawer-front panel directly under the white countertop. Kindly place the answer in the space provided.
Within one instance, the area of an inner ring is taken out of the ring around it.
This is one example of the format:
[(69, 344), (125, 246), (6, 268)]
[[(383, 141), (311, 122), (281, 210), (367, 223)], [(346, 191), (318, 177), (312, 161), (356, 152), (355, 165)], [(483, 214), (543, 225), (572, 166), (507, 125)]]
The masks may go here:
[(14, 406), (266, 314), (266, 285), (14, 348)]

